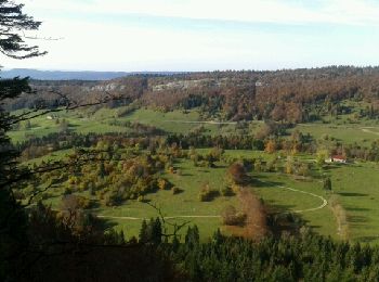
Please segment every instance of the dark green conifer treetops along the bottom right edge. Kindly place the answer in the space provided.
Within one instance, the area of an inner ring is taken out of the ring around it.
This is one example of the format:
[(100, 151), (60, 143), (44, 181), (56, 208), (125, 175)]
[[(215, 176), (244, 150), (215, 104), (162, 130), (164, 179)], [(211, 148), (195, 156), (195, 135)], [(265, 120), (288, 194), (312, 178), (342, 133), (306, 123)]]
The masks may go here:
[(379, 247), (335, 242), (310, 232), (252, 242), (223, 236), (200, 244), (196, 227), (167, 248), (190, 281), (377, 281)]

